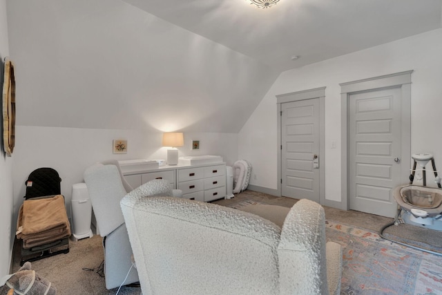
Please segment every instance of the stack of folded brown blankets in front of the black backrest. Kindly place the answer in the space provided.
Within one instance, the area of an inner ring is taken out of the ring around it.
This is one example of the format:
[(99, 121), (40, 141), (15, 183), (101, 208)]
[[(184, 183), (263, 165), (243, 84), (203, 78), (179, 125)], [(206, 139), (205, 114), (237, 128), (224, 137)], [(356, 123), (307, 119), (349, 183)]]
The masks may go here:
[(23, 248), (29, 249), (68, 236), (70, 225), (63, 196), (23, 202), (17, 220), (17, 238), (23, 239)]

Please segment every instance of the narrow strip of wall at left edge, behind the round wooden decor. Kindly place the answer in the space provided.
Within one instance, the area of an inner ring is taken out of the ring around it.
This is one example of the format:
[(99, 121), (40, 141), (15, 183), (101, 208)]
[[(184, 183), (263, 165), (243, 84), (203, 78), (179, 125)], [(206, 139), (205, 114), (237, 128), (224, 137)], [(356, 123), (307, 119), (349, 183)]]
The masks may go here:
[[(0, 89), (3, 92), (3, 58), (9, 55), (6, 0), (0, 0)], [(3, 126), (3, 124), (2, 124)], [(3, 138), (3, 128), (1, 128)], [(12, 214), (12, 158), (5, 156), (3, 140), (0, 153), (0, 277), (9, 274), (15, 221)]]

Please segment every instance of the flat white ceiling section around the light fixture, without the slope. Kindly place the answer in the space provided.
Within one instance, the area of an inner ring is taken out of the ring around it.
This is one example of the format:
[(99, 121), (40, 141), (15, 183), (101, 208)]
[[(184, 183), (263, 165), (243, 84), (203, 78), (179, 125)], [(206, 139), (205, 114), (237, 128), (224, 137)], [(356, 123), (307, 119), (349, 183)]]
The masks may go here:
[(441, 28), (441, 0), (123, 1), (276, 70)]

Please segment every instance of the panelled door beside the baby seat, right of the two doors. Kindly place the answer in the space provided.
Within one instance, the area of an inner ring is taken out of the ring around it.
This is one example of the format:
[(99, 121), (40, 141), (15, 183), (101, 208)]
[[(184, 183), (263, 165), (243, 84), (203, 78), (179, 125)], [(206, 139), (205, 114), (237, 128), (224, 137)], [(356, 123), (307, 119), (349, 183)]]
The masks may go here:
[(401, 89), (349, 95), (349, 208), (394, 217), (401, 184)]

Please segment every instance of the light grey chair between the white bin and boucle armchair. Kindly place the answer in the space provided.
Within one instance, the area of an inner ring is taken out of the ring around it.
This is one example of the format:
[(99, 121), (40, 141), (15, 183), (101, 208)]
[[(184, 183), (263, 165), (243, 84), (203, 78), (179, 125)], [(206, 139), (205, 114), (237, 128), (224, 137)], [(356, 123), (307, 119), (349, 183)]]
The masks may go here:
[[(133, 188), (124, 179), (116, 160), (88, 167), (84, 172), (84, 181), (88, 187), (99, 234), (103, 237), (106, 289), (119, 287), (123, 282), (124, 285), (138, 282), (137, 269), (132, 267), (131, 243), (119, 206), (119, 201), (126, 193), (133, 191)], [(182, 196), (182, 191), (173, 190), (173, 196)]]

